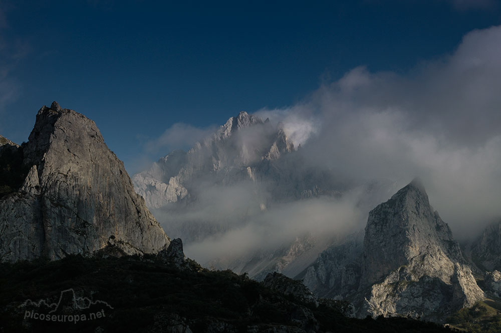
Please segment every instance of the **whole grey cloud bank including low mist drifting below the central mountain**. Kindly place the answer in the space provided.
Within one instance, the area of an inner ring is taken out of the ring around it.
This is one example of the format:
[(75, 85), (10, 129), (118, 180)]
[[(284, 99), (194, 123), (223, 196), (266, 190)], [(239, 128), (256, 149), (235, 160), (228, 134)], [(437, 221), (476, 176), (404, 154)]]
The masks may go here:
[[(235, 268), (232, 260), (280, 254), (298, 236), (325, 241), (362, 230), (370, 209), (420, 177), (455, 237), (471, 239), (501, 216), (499, 91), (501, 27), (472, 31), (451, 54), (408, 73), (354, 68), (297, 105), (256, 112), (301, 144), (289, 169), (328, 172), (343, 195), (277, 201), (264, 183), (205, 179), (189, 207), (154, 215), (171, 237), (199, 235), (186, 238), (188, 256)], [(185, 144), (207, 132), (175, 125), (157, 143)], [(299, 186), (290, 175), (279, 176)]]

